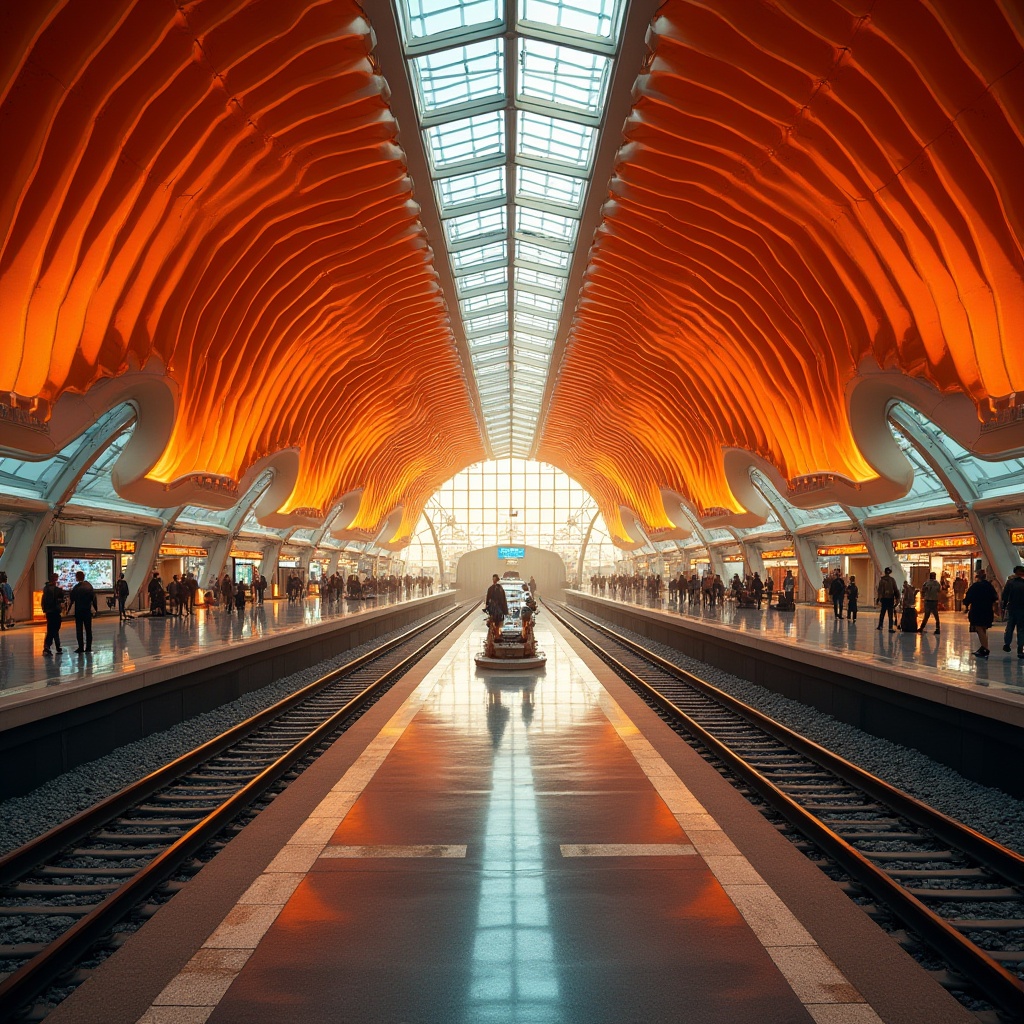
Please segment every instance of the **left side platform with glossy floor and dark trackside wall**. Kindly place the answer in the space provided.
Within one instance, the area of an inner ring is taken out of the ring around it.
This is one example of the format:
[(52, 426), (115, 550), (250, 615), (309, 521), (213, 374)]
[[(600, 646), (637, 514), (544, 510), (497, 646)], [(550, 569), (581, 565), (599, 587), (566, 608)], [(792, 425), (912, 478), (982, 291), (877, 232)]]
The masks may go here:
[(167, 729), (454, 603), (443, 592), (404, 601), (319, 598), (198, 609), (176, 617), (93, 621), (78, 654), (42, 654), (45, 626), (0, 634), (0, 797), (16, 796), (116, 746)]

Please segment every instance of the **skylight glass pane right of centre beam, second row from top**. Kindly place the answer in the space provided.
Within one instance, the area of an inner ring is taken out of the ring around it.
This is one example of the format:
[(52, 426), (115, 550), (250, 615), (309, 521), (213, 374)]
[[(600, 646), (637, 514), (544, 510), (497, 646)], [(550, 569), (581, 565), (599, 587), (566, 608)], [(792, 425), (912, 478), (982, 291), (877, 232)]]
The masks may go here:
[(517, 99), (540, 99), (600, 117), (611, 72), (606, 56), (520, 37), (518, 67)]

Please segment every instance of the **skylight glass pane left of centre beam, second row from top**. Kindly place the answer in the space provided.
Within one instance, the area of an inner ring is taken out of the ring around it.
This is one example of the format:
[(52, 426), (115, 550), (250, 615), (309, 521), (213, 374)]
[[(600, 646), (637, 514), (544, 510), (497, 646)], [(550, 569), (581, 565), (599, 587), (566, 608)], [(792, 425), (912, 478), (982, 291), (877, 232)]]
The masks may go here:
[(420, 117), (505, 101), (505, 40), (484, 39), (411, 61)]

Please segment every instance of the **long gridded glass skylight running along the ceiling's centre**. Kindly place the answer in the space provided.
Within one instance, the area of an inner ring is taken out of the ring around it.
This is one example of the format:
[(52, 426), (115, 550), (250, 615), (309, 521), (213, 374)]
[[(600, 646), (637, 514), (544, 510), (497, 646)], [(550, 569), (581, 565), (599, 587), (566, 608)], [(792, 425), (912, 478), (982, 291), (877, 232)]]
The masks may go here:
[[(446, 247), (456, 279), (450, 308), (462, 318), (494, 454), (526, 455), (625, 0), (396, 6), (443, 224), (443, 239), (431, 242)], [(513, 402), (528, 409), (513, 418)]]

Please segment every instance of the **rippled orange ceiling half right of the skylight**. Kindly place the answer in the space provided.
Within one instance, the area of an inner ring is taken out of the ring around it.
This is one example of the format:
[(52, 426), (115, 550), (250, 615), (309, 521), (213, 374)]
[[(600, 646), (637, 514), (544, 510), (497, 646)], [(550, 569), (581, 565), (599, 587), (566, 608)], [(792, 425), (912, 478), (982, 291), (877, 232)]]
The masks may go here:
[(609, 525), (657, 488), (739, 511), (723, 450), (783, 480), (876, 475), (871, 368), (1024, 395), (1024, 47), (979, 0), (668, 0), (538, 458)]

